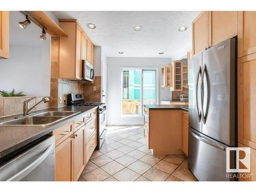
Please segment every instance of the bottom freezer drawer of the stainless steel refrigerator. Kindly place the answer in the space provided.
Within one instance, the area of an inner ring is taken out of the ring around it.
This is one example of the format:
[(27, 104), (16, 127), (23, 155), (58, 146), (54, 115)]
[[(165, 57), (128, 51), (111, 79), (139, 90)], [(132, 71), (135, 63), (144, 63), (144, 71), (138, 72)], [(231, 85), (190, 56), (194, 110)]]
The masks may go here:
[[(226, 145), (189, 127), (188, 167), (199, 181), (232, 181), (226, 178)], [(234, 162), (234, 157), (232, 157)]]

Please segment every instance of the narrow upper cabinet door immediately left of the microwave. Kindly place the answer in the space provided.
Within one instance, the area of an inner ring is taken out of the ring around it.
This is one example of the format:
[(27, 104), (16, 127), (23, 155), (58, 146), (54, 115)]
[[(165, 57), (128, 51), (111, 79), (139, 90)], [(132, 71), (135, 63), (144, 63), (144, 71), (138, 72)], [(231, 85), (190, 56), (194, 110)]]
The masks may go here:
[(82, 45), (82, 29), (77, 25), (76, 28), (76, 78), (82, 78), (82, 60), (81, 60), (81, 45)]

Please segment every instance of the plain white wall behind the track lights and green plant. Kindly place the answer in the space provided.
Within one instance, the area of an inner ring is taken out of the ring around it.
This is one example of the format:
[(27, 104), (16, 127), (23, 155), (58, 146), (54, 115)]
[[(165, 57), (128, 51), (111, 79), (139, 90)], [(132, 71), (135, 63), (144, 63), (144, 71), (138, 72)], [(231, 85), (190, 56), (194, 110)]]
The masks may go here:
[(0, 59), (0, 90), (49, 96), (51, 36), (40, 40), (42, 30), (32, 22), (22, 29), (21, 20), (23, 14), (10, 11), (10, 54), (9, 59)]

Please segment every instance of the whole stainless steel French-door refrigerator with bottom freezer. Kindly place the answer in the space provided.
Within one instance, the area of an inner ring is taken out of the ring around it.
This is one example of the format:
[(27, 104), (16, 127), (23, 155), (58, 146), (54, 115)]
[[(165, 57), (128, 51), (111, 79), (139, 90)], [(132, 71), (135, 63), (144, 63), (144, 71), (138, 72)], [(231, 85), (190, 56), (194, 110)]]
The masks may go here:
[(230, 38), (188, 63), (188, 167), (199, 181), (233, 180), (226, 178), (226, 148), (237, 146), (236, 44)]

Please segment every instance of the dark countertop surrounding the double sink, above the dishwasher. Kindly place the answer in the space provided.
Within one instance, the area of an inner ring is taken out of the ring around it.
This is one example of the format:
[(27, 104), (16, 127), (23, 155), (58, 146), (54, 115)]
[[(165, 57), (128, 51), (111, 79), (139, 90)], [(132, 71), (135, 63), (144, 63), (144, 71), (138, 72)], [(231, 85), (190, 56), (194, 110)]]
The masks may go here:
[[(33, 113), (42, 113), (48, 111), (76, 111), (80, 112), (71, 117), (65, 118), (63, 120), (59, 120), (50, 125), (42, 125), (42, 126), (0, 126), (0, 160), (3, 157), (6, 157), (8, 154), (16, 151), (20, 147), (23, 147), (30, 142), (49, 134), (53, 130), (62, 126), (63, 124), (72, 121), (79, 116), (84, 115), (84, 113), (97, 108), (97, 106), (63, 106), (61, 108), (49, 108), (46, 110), (38, 110)], [(33, 114), (31, 113), (31, 114)], [(4, 120), (13, 119), (14, 117), (18, 117), (19, 115), (13, 115), (8, 117), (0, 118), (0, 122)]]

